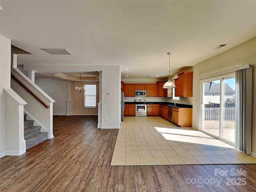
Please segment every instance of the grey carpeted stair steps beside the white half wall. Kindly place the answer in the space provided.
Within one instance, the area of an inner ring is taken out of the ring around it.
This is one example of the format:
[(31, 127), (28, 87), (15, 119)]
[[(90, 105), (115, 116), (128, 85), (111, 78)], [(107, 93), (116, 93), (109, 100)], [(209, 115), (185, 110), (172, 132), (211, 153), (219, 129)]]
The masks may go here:
[(26, 120), (24, 114), (24, 139), (26, 140), (26, 150), (43, 142), (48, 138), (48, 132), (40, 132), (41, 126), (33, 126), (34, 120)]

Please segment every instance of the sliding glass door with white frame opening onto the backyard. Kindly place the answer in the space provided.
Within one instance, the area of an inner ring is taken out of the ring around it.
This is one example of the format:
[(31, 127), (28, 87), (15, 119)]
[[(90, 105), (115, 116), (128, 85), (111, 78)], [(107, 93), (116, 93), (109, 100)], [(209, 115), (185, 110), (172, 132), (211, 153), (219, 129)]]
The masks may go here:
[(235, 143), (235, 75), (202, 81), (201, 130)]

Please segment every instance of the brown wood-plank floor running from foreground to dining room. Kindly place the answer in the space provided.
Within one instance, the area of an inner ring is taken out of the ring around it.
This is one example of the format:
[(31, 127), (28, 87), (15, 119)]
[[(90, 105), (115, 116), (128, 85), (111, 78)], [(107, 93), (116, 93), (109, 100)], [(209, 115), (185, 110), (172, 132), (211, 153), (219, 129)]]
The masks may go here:
[(118, 130), (96, 127), (97, 116), (54, 116), (53, 139), (0, 158), (0, 191), (256, 191), (256, 164), (110, 166)]

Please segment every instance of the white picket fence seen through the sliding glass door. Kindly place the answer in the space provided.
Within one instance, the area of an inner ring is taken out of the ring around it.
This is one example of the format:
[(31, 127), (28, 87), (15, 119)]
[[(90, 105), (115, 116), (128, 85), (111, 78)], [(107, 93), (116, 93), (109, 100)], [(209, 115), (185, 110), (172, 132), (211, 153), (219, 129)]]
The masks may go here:
[[(204, 108), (204, 120), (205, 121), (218, 121), (220, 120), (220, 108)], [(235, 120), (235, 107), (225, 107), (223, 111), (224, 121)]]

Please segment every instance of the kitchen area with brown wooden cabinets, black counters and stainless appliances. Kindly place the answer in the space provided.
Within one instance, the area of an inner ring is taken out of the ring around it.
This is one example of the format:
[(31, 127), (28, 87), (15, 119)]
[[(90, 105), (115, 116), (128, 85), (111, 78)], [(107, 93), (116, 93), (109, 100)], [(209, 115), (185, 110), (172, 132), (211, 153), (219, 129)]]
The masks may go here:
[(124, 116), (161, 116), (177, 126), (192, 126), (193, 72), (182, 72), (174, 79), (176, 88), (156, 83), (124, 83)]

